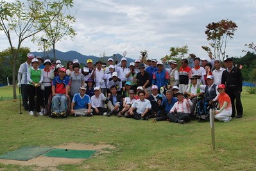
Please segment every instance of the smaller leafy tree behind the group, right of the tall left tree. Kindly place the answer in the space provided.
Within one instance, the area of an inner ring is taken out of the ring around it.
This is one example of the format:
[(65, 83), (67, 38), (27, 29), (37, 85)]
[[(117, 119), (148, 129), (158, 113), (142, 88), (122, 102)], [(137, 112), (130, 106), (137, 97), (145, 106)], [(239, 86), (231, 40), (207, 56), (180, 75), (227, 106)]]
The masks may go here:
[[(65, 3), (60, 3), (61, 1), (58, 0), (59, 5), (56, 6), (55, 12), (58, 13), (55, 18), (51, 21), (49, 26), (44, 28), (44, 35), (42, 37), (36, 37), (34, 35), (32, 41), (37, 42), (37, 45), (40, 47), (40, 50), (46, 50), (48, 53), (53, 48), (53, 58), (56, 60), (56, 53), (55, 53), (55, 44), (58, 41), (61, 41), (62, 38), (66, 39), (65, 36), (70, 37), (71, 40), (76, 36), (76, 32), (73, 29), (72, 24), (76, 22), (76, 18), (74, 15), (70, 13), (66, 14), (66, 8), (64, 8)], [(71, 3), (69, 6), (73, 7)], [(51, 20), (51, 16), (48, 17), (48, 20)]]

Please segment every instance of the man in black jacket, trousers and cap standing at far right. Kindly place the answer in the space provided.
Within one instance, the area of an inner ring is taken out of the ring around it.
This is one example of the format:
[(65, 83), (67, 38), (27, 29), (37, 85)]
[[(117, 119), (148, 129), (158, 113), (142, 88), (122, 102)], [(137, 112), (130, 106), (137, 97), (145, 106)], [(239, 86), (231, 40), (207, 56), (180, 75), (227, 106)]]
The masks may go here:
[(231, 99), (232, 115), (235, 117), (235, 108), (237, 110), (237, 118), (241, 118), (243, 115), (243, 106), (241, 102), (241, 92), (243, 86), (243, 76), (240, 69), (233, 66), (232, 58), (226, 58), (224, 60), (226, 70), (223, 71), (221, 77), (221, 84), (226, 85), (226, 94)]

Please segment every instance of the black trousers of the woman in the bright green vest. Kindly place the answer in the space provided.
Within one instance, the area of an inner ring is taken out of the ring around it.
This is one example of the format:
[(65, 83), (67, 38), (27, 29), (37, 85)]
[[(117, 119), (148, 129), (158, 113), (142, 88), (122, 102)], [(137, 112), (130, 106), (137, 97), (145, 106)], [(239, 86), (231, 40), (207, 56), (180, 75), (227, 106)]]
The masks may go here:
[[(35, 96), (37, 97), (36, 99)], [(40, 112), (40, 99), (42, 97), (40, 86), (35, 88), (35, 86), (28, 85), (28, 97), (30, 98), (30, 111), (33, 111), (33, 107), (35, 106), (37, 112)]]

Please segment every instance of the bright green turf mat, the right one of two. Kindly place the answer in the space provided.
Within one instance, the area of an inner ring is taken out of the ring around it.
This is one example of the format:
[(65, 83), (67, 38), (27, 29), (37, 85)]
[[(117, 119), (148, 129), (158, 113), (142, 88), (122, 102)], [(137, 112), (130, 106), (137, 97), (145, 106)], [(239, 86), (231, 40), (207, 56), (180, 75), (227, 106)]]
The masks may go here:
[(51, 151), (42, 154), (46, 157), (55, 157), (55, 158), (90, 158), (92, 154), (97, 151), (78, 151), (78, 150), (69, 150), (69, 149), (53, 149)]

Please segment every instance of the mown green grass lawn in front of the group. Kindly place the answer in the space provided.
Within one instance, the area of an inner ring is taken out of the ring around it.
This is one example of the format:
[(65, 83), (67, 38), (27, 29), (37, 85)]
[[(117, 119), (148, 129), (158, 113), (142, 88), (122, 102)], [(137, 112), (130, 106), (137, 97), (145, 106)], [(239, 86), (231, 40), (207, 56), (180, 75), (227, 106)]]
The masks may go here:
[[(31, 117), (24, 110), (18, 114), (19, 99), (0, 101), (0, 155), (25, 146), (110, 144), (115, 148), (105, 149), (108, 153), (78, 165), (58, 165), (55, 170), (255, 170), (255, 100), (256, 94), (244, 91), (243, 118), (215, 122), (215, 151), (209, 122), (192, 120), (182, 125), (114, 116)], [(52, 168), (0, 163), (0, 170)]]

